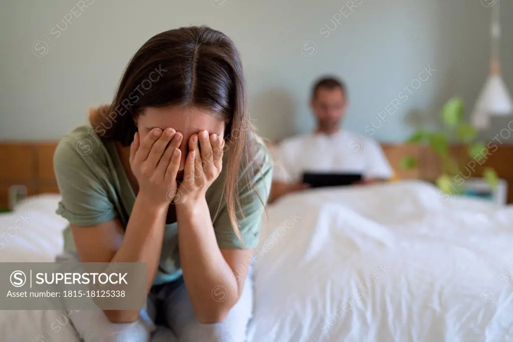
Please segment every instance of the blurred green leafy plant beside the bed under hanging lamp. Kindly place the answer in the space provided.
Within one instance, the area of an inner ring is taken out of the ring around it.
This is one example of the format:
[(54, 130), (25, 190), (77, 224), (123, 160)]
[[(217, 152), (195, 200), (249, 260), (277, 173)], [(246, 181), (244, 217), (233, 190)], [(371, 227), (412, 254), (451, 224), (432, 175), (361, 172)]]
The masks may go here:
[[(471, 159), (484, 162), (487, 147), (482, 141), (476, 140), (478, 132), (469, 122), (463, 118), (463, 101), (460, 98), (451, 98), (444, 105), (442, 112), (443, 128), (438, 130), (424, 130), (418, 128), (408, 138), (407, 142), (411, 144), (428, 145), (440, 158), (442, 165), (442, 173), (436, 179), (437, 186), (443, 191), (449, 193), (451, 189), (462, 193), (462, 185), (464, 179), (460, 172), (461, 162), (452, 156), (449, 152), (449, 141), (456, 140), (466, 150), (466, 154)], [(413, 169), (417, 167), (418, 162), (415, 157), (407, 156), (401, 161), (401, 167), (405, 169)], [(483, 177), (492, 189), (498, 184), (498, 177), (495, 170), (486, 167), (483, 170)]]

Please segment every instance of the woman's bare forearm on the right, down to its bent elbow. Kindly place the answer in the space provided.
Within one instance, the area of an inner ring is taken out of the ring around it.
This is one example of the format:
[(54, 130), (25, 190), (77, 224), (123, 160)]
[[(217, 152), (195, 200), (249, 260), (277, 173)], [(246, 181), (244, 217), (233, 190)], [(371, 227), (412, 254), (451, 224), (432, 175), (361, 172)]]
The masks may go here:
[[(203, 323), (218, 322), (235, 305), (239, 293), (216, 241), (206, 200), (177, 206), (176, 219), (185, 286), (196, 318)], [(226, 293), (222, 301), (212, 297), (216, 287)]]

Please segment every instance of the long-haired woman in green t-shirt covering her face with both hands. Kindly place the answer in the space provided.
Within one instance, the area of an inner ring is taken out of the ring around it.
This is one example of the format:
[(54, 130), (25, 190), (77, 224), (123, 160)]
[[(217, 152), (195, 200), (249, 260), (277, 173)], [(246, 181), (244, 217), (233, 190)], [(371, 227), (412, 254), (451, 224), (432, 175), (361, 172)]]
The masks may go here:
[[(58, 144), (67, 261), (143, 262), (145, 310), (69, 316), (86, 341), (245, 340), (272, 166), (233, 42), (208, 27), (148, 40), (112, 104)], [(167, 334), (167, 335), (166, 335)]]

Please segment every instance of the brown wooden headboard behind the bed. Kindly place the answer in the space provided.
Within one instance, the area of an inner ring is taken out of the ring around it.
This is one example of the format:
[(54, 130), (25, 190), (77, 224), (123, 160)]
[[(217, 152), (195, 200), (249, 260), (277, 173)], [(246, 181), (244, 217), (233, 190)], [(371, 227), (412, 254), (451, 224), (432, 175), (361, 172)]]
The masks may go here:
[[(53, 153), (56, 141), (0, 142), (0, 208), (8, 206), (8, 189), (11, 185), (25, 185), (28, 195), (58, 193), (53, 173)], [(437, 156), (427, 147), (407, 144), (383, 144), (384, 153), (400, 179), (433, 181), (440, 174)], [(453, 154), (461, 154), (462, 147), (452, 146)], [(414, 156), (419, 167), (405, 171), (400, 167), (405, 156)], [(508, 203), (513, 203), (513, 145), (500, 145), (488, 155), (483, 165), (476, 165), (475, 176), (481, 175), (486, 166), (494, 167), (499, 177), (508, 182)]]

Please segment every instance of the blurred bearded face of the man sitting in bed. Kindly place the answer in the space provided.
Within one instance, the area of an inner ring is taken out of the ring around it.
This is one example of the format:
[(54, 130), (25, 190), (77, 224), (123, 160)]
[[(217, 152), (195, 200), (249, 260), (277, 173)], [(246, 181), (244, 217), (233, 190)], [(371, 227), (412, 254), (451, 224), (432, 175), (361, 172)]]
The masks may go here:
[(311, 108), (320, 127), (334, 129), (339, 126), (346, 111), (346, 98), (340, 88), (321, 87), (311, 101)]

